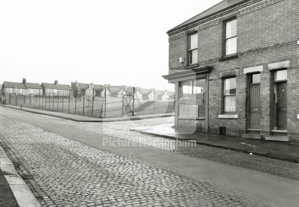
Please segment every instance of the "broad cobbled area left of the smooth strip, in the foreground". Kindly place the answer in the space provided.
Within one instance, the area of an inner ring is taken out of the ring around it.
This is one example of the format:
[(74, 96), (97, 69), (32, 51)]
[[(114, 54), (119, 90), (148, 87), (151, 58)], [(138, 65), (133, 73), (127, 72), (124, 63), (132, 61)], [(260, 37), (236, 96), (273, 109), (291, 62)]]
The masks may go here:
[(3, 116), (0, 130), (42, 206), (267, 206)]

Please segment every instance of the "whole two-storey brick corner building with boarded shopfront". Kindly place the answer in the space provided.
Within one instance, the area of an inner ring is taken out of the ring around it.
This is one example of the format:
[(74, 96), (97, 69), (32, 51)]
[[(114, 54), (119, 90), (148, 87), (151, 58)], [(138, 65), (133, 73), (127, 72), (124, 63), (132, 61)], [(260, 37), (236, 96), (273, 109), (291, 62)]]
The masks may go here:
[(175, 127), (299, 140), (298, 10), (298, 0), (224, 0), (167, 31)]

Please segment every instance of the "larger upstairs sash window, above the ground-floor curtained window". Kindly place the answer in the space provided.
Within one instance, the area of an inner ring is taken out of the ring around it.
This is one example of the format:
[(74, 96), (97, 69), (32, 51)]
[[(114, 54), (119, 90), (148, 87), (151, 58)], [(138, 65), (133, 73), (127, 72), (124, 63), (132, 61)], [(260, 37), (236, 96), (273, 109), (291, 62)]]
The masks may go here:
[(237, 53), (237, 19), (225, 23), (225, 55)]

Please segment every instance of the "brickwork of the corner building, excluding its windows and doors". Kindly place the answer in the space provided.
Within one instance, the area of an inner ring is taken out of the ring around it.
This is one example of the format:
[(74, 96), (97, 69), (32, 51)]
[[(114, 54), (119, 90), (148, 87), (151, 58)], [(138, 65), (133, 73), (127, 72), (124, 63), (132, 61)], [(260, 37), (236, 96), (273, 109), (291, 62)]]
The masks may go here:
[[(288, 80), (288, 136), (299, 140), (297, 114), (299, 114), (299, 24), (297, 0), (247, 1), (237, 7), (237, 54), (238, 58), (219, 62), (223, 48), (223, 23), (225, 16), (215, 14), (208, 21), (198, 24), (198, 62), (200, 65), (213, 66), (209, 77), (209, 133), (219, 133), (219, 127), (226, 127), (226, 133), (241, 136), (248, 129), (248, 75), (243, 69), (263, 65), (260, 82), (261, 135), (271, 134), (273, 129), (273, 80), (267, 65), (289, 61)], [(229, 9), (232, 13), (236, 9)], [(193, 23), (196, 25), (197, 23)], [(187, 34), (173, 31), (169, 34), (169, 73), (184, 71), (187, 66)], [(185, 35), (183, 35), (185, 34)], [(179, 63), (179, 57), (184, 63)], [(218, 118), (223, 111), (223, 77), (236, 76), (236, 114), (237, 119)], [(179, 128), (196, 130), (204, 128), (205, 121), (178, 120)], [(195, 125), (194, 125), (195, 124)]]

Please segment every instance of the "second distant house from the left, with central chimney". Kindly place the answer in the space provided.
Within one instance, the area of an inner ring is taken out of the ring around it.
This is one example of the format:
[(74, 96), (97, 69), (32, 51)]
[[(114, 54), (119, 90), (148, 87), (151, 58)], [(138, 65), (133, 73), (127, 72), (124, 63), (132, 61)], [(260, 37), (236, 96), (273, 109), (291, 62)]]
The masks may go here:
[(73, 89), (69, 85), (58, 84), (56, 80), (54, 83), (41, 84), (43, 96), (73, 96)]

